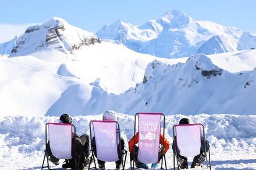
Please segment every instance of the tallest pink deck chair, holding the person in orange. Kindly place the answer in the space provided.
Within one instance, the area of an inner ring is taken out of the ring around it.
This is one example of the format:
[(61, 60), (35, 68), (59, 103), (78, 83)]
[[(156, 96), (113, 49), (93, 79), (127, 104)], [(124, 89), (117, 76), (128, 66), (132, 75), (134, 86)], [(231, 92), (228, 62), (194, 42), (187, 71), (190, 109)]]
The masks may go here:
[[(159, 138), (161, 134), (161, 119), (163, 116), (163, 138), (165, 130), (165, 116), (162, 113), (137, 113), (134, 119), (134, 136), (136, 134), (136, 119), (138, 116), (138, 132), (139, 132), (139, 142), (138, 142), (138, 160), (145, 164), (154, 164), (158, 162), (158, 152), (159, 152)], [(134, 138), (135, 143), (135, 138)], [(164, 145), (163, 145), (164, 146)], [(134, 146), (135, 147), (135, 146)], [(165, 160), (165, 169), (167, 169), (165, 155), (163, 153), (164, 147), (162, 148), (162, 164), (163, 168), (163, 158)], [(133, 148), (133, 153), (131, 157), (131, 169), (134, 169), (135, 149)], [(133, 166), (132, 166), (133, 161)]]

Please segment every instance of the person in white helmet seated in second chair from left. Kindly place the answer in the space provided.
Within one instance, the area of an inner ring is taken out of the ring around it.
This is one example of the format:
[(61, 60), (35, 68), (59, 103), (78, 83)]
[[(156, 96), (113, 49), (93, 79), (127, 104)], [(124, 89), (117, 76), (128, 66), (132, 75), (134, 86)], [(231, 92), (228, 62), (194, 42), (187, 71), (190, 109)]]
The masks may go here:
[[(117, 113), (115, 111), (106, 111), (103, 116), (102, 116), (102, 120), (103, 121), (117, 121)], [(118, 132), (118, 129), (117, 129)], [(119, 133), (117, 133), (119, 134)], [(119, 138), (119, 136), (117, 136), (117, 139)], [(97, 151), (96, 151), (96, 143), (95, 143), (95, 138), (92, 138), (92, 147), (95, 149), (94, 155), (97, 158)], [(121, 142), (121, 150), (122, 152), (124, 151), (124, 139), (120, 138), (120, 142)], [(117, 141), (117, 145), (119, 147), (119, 141)], [(123, 159), (123, 154), (122, 154), (122, 159)], [(122, 160), (119, 159), (116, 161), (116, 170), (119, 170), (121, 168), (121, 164), (122, 164)], [(100, 168), (100, 170), (105, 170), (105, 162), (98, 159), (98, 166)]]

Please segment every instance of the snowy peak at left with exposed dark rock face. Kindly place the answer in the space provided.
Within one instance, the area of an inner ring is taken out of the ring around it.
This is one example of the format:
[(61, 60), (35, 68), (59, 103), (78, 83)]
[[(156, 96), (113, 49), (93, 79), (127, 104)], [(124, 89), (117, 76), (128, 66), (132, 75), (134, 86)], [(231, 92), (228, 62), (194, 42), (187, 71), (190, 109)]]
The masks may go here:
[(59, 50), (73, 53), (82, 46), (100, 43), (93, 33), (68, 24), (54, 17), (41, 25), (28, 27), (20, 37), (0, 45), (0, 54), (28, 55), (39, 50)]

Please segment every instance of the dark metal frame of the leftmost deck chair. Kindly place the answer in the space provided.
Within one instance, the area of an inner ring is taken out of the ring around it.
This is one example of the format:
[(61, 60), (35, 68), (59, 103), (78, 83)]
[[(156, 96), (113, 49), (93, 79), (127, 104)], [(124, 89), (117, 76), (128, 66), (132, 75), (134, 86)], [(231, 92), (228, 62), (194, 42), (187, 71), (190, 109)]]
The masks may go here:
[[(47, 153), (47, 127), (48, 127), (48, 130), (49, 130), (49, 126), (47, 126), (47, 125), (49, 125), (49, 124), (56, 124), (56, 125), (61, 125), (61, 123), (46, 123), (45, 124), (45, 153), (44, 153), (44, 160), (45, 160), (45, 157), (46, 157), (46, 153)], [(72, 126), (72, 129), (74, 128), (74, 134), (76, 134), (76, 127), (73, 125), (73, 124), (71, 124), (71, 126)], [(73, 138), (72, 138), (73, 139)], [(72, 140), (71, 140), (71, 142), (72, 142)], [(73, 147), (73, 146), (72, 146)], [(76, 142), (74, 142), (74, 148), (76, 148)], [(79, 169), (79, 161), (80, 161), (80, 155), (79, 155), (79, 160), (78, 160), (78, 164), (76, 164), (77, 163), (77, 160), (76, 160), (76, 149), (74, 149), (74, 159), (75, 159), (75, 165), (77, 165), (76, 167), (75, 167), (75, 169)], [(44, 166), (44, 160), (43, 160), (43, 164), (42, 164), (42, 168), (41, 168), (41, 170), (43, 170), (43, 168), (45, 168), (45, 166)], [(47, 160), (47, 168), (48, 169), (51, 169), (50, 168), (50, 166), (49, 166), (49, 160), (46, 158), (46, 160)]]

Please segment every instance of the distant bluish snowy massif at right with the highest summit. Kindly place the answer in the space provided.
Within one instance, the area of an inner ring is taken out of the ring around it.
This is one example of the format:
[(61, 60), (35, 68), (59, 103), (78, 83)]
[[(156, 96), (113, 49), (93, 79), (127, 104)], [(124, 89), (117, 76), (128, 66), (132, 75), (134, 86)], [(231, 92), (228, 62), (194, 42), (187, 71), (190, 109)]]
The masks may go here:
[(97, 36), (139, 53), (165, 58), (235, 52), (256, 47), (256, 36), (251, 33), (210, 21), (196, 21), (179, 10), (170, 10), (157, 20), (139, 26), (118, 20), (105, 25)]

